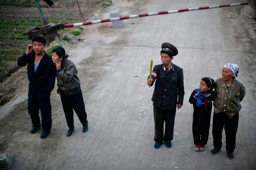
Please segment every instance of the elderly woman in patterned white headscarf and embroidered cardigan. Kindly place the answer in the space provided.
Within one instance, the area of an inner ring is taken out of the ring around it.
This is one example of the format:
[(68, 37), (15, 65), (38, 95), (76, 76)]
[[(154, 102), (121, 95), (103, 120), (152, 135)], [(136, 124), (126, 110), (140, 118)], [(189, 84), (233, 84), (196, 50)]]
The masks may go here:
[(244, 85), (235, 79), (238, 71), (238, 65), (227, 63), (223, 66), (222, 78), (215, 81), (217, 96), (213, 102), (212, 136), (214, 149), (211, 150), (211, 154), (215, 155), (220, 151), (224, 127), (227, 158), (229, 159), (234, 157), (239, 111), (241, 110), (240, 102), (245, 96)]

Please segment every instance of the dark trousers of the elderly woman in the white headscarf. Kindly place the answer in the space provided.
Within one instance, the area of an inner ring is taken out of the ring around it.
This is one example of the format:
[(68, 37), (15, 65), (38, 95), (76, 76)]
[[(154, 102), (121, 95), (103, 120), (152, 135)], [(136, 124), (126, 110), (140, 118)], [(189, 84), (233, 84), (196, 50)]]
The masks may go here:
[(212, 121), (212, 136), (215, 149), (220, 149), (222, 146), (221, 137), (223, 127), (226, 133), (226, 150), (234, 152), (236, 146), (236, 132), (238, 128), (239, 113), (229, 118), (226, 112), (213, 114)]

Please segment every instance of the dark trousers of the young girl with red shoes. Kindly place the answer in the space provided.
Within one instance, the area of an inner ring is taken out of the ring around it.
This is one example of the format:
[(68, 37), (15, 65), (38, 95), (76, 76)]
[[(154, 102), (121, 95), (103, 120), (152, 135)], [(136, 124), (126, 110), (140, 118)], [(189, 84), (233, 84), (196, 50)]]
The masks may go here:
[(195, 145), (206, 145), (209, 137), (210, 120), (193, 119), (192, 130)]

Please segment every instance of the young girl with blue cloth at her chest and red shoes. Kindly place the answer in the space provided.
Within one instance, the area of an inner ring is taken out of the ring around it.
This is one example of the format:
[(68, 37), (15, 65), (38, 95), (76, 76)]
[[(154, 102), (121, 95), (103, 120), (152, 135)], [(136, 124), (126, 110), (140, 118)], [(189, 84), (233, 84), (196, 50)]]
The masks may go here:
[(195, 89), (189, 98), (189, 102), (193, 104), (193, 138), (194, 150), (204, 151), (208, 141), (212, 101), (216, 93), (212, 91), (214, 88), (214, 80), (209, 77), (201, 79), (199, 89)]

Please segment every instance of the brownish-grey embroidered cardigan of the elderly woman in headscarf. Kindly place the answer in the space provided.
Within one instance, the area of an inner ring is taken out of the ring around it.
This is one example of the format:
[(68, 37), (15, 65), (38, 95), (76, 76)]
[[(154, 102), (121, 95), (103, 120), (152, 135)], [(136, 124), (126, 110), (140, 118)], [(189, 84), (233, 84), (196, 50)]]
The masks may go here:
[(242, 106), (240, 102), (245, 96), (245, 87), (242, 83), (233, 79), (231, 86), (227, 89), (223, 78), (218, 78), (215, 81), (214, 88), (217, 92), (217, 97), (213, 102), (214, 108), (216, 109), (215, 112), (224, 111), (237, 113), (241, 110)]

